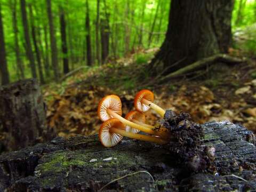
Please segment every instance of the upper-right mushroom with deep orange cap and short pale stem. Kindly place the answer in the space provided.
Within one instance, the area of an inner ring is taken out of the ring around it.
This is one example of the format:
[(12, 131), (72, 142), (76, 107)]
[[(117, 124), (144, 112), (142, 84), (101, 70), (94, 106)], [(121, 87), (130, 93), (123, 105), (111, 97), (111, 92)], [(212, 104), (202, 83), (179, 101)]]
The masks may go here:
[(141, 112), (153, 109), (161, 117), (164, 117), (165, 110), (156, 105), (154, 102), (154, 93), (149, 90), (141, 90), (135, 95), (134, 107)]

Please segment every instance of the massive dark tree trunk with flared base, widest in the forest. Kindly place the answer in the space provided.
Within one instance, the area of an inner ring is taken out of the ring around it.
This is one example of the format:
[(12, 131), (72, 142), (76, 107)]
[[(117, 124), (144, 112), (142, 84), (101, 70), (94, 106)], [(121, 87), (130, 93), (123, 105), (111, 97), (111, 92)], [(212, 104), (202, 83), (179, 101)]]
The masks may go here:
[[(172, 0), (165, 41), (151, 66), (160, 71), (169, 67), (170, 72), (226, 53), (231, 42), (233, 4), (233, 0)], [(180, 60), (179, 65), (171, 67)]]

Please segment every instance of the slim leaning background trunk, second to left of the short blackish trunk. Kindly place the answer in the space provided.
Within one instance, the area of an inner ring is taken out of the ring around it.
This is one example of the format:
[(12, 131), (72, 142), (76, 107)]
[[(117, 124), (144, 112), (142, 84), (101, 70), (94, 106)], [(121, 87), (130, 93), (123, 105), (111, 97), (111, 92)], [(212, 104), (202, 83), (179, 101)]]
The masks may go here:
[(31, 4), (29, 4), (29, 14), (30, 14), (31, 34), (32, 34), (32, 39), (33, 39), (33, 43), (34, 43), (34, 47), (35, 47), (35, 52), (36, 52), (36, 60), (37, 60), (37, 65), (38, 65), (39, 79), (40, 79), (40, 83), (44, 84), (44, 74), (43, 74), (43, 69), (42, 69), (41, 55), (40, 55), (39, 48), (37, 46), (36, 27), (35, 27), (34, 15), (33, 15), (33, 10), (32, 10)]

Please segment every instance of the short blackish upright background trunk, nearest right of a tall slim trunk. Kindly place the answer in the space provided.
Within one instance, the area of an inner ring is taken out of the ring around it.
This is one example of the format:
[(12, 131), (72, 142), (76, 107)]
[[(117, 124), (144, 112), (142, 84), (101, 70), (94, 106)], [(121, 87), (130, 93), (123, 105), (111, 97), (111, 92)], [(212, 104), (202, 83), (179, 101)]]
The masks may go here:
[(65, 21), (65, 12), (60, 6), (60, 34), (61, 34), (61, 47), (63, 54), (63, 73), (67, 74), (69, 72), (68, 66), (68, 47), (67, 47), (67, 36), (66, 36), (66, 21)]

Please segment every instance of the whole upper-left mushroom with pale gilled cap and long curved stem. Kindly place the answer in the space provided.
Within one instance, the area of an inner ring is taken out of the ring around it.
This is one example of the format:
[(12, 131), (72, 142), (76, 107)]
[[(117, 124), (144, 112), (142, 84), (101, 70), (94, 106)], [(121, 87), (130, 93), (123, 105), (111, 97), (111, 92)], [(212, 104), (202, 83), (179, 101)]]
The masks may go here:
[(128, 121), (127, 119), (123, 118), (122, 116), (122, 103), (121, 100), (117, 95), (107, 95), (104, 97), (98, 106), (98, 116), (101, 119), (101, 121), (107, 121), (109, 118), (117, 118), (119, 121), (121, 121), (123, 124), (130, 126), (134, 129), (138, 129), (142, 132), (151, 134), (151, 135), (159, 135), (160, 137), (162, 135), (166, 135), (166, 131), (161, 130), (154, 130), (150, 129), (149, 127), (142, 126), (136, 123), (133, 123), (131, 121)]

